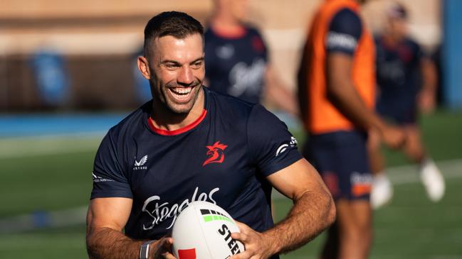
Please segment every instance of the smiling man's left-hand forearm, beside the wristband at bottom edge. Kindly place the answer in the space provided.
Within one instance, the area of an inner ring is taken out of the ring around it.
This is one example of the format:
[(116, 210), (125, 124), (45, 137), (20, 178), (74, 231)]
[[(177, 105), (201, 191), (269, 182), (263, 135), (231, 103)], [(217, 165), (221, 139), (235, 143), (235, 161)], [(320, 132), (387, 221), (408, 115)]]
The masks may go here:
[(87, 251), (92, 259), (139, 258), (142, 243), (112, 228), (93, 229), (87, 234)]

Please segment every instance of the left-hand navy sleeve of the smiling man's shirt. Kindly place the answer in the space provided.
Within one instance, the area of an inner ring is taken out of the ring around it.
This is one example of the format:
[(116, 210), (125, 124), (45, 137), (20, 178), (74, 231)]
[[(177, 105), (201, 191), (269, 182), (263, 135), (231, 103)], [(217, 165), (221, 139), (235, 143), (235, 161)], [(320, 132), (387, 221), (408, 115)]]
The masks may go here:
[(98, 148), (93, 165), (93, 190), (90, 199), (103, 197), (132, 198), (130, 184), (122, 170), (117, 154), (117, 141), (112, 130), (107, 133)]

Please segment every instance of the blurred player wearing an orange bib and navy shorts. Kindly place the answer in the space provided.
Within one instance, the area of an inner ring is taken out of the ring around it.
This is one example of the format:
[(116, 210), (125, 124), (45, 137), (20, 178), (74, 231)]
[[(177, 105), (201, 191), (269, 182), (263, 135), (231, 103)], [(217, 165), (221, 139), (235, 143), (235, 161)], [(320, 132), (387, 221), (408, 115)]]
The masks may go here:
[(335, 199), (337, 220), (321, 258), (367, 258), (372, 243), (372, 174), (367, 131), (397, 148), (404, 133), (374, 112), (374, 39), (360, 1), (327, 0), (315, 13), (298, 73), (304, 155)]

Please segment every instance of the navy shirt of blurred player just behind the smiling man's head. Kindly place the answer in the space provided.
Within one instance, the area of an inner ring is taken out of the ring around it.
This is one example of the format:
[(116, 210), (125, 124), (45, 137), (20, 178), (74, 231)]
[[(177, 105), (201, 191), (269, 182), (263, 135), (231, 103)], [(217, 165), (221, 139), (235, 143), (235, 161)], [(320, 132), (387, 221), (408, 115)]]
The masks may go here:
[(206, 78), (216, 92), (258, 104), (261, 101), (268, 53), (255, 28), (230, 37), (209, 28), (204, 33)]

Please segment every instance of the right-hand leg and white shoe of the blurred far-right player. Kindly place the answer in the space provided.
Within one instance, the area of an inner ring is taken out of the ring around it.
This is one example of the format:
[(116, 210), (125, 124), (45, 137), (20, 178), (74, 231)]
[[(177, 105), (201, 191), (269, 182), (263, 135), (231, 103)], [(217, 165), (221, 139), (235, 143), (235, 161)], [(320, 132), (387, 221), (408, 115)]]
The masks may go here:
[(426, 155), (419, 126), (409, 124), (404, 129), (406, 131), (404, 152), (412, 161), (419, 164), (419, 177), (422, 184), (424, 184), (429, 199), (433, 202), (438, 202), (444, 196), (445, 183), (443, 175), (434, 161)]

